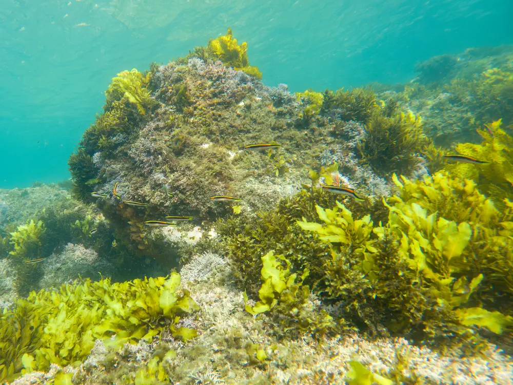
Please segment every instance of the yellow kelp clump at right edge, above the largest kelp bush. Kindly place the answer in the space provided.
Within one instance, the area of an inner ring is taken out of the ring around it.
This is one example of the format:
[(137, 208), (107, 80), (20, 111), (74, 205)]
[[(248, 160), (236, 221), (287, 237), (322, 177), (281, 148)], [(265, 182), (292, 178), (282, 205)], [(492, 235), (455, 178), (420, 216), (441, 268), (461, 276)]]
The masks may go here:
[(500, 128), (500, 121), (494, 123), (488, 126), (489, 131), (478, 130), (483, 139), (481, 144), (456, 146), (458, 153), (489, 164), (456, 164), (445, 168), (455, 176), (475, 180), (480, 191), (502, 207), (503, 198), (513, 199), (513, 138)]

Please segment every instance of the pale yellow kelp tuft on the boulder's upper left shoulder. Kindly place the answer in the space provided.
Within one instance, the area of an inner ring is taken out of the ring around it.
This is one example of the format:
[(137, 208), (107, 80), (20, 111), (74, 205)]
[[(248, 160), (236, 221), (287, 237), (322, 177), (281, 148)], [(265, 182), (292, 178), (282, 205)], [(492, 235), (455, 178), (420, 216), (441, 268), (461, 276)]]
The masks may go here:
[(144, 115), (146, 110), (153, 104), (153, 99), (151, 99), (150, 91), (147, 88), (150, 79), (151, 72), (143, 75), (135, 68), (131, 71), (125, 70), (118, 73), (115, 78), (112, 78), (112, 83), (105, 93), (107, 98), (109, 98), (114, 92), (119, 92), (130, 103), (134, 103), (139, 112)]

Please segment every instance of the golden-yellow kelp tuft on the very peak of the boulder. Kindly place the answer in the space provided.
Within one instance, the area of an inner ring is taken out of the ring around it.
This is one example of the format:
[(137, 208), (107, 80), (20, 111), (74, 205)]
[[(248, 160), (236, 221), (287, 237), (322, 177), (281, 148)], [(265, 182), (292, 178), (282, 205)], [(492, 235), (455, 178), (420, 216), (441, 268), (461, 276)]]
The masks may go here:
[(220, 60), (226, 67), (233, 67), (236, 70), (242, 70), (254, 78), (262, 79), (262, 72), (258, 67), (250, 66), (248, 59), (248, 44), (237, 44), (237, 39), (233, 38), (230, 28), (224, 36), (211, 39), (207, 45), (207, 52), (210, 57)]

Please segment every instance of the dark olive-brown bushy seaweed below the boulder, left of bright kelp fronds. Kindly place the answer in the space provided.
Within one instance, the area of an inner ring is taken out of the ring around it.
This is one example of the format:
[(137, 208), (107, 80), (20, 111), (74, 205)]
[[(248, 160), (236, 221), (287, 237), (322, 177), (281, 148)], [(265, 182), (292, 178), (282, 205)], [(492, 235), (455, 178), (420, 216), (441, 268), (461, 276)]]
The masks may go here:
[[(306, 233), (295, 223), (302, 218), (317, 220), (315, 203), (323, 206), (335, 204), (335, 197), (320, 189), (313, 192), (302, 190), (298, 194), (281, 200), (277, 208), (251, 216), (244, 211), (215, 225), (219, 234), (223, 254), (233, 262), (233, 275), (243, 284), (249, 296), (258, 296), (261, 286), (262, 257), (270, 251), (290, 261), (293, 271), (309, 270), (305, 284), (322, 287), (323, 261), (331, 255), (331, 245), (315, 234)], [(357, 215), (371, 213), (377, 223), (386, 221), (388, 210), (379, 201), (364, 207), (348, 202), (348, 207)], [(283, 260), (283, 259), (282, 259)]]

